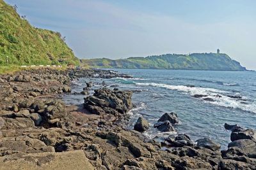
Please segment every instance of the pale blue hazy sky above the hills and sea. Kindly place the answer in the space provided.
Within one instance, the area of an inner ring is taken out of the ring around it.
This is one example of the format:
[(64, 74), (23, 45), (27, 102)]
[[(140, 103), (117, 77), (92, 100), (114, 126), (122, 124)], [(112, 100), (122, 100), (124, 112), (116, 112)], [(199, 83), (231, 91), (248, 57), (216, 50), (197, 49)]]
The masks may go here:
[(216, 52), (256, 70), (254, 0), (5, 0), (80, 59)]

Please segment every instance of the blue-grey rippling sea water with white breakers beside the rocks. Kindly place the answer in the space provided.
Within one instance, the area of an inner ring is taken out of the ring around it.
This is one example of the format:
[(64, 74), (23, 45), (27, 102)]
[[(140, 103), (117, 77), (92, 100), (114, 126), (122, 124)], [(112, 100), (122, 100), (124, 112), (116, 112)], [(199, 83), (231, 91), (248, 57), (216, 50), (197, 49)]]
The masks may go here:
[[(188, 134), (193, 141), (209, 137), (227, 148), (230, 131), (223, 125), (238, 124), (256, 129), (256, 72), (249, 71), (185, 71), (154, 69), (115, 69), (134, 78), (95, 79), (118, 89), (133, 90), (136, 108), (129, 111), (129, 128), (142, 116), (150, 123), (145, 132), (149, 138), (170, 134)], [(76, 81), (74, 91), (81, 92), (84, 81)], [(100, 85), (95, 85), (94, 89)], [(91, 91), (93, 94), (93, 91)], [(193, 95), (205, 95), (214, 101), (205, 101)], [(221, 96), (221, 97), (220, 97)], [(234, 98), (236, 96), (239, 98)], [(65, 96), (68, 104), (83, 103), (84, 96)], [(164, 113), (177, 113), (180, 123), (176, 132), (161, 133), (153, 128)]]

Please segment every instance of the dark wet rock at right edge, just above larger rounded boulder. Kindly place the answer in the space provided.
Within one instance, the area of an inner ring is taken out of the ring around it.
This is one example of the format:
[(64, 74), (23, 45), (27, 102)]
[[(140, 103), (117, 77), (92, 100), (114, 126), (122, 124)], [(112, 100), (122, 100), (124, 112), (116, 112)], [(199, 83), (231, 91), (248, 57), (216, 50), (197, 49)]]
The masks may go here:
[(256, 142), (256, 131), (253, 129), (239, 129), (239, 131), (233, 131), (230, 136), (231, 141), (239, 139), (251, 139)]

